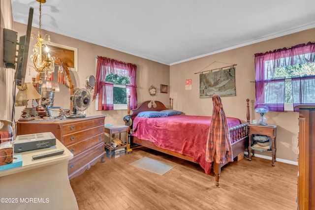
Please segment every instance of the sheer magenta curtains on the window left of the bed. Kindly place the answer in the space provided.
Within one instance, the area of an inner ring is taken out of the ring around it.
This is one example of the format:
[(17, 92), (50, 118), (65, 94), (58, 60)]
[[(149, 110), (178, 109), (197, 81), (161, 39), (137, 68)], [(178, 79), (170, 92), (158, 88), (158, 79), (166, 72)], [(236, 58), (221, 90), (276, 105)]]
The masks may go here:
[(136, 71), (137, 65), (135, 64), (97, 56), (94, 98), (98, 97), (98, 110), (114, 109), (114, 85), (105, 81), (106, 76), (110, 73), (129, 77), (126, 89), (130, 90), (130, 109), (137, 108)]

